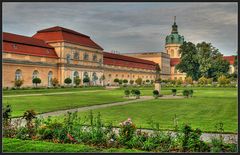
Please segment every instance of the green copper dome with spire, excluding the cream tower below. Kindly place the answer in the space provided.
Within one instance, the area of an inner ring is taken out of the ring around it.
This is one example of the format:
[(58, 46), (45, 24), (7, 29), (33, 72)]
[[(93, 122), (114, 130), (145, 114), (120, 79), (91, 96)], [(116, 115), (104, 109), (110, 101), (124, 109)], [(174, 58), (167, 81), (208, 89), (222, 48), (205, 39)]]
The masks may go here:
[(175, 22), (176, 17), (174, 17), (174, 24), (172, 25), (172, 32), (166, 37), (166, 44), (183, 44), (184, 37), (178, 34), (177, 24)]

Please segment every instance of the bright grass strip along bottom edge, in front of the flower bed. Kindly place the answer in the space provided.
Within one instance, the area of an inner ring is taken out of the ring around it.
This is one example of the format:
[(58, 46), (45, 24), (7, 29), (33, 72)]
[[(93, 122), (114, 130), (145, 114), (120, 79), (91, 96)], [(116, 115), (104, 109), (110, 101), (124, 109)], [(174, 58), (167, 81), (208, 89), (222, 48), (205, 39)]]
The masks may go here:
[(3, 152), (143, 152), (134, 149), (101, 149), (84, 144), (59, 144), (44, 141), (3, 138)]

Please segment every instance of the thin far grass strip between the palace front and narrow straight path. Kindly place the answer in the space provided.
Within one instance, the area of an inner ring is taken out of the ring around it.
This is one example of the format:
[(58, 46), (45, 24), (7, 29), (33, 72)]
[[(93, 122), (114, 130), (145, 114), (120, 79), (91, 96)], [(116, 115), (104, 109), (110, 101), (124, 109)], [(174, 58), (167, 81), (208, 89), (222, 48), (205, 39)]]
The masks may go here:
[(21, 95), (21, 94), (45, 94), (56, 92), (69, 92), (69, 91), (87, 91), (87, 90), (102, 90), (103, 87), (83, 87), (83, 88), (51, 88), (51, 89), (26, 89), (26, 90), (3, 90), (3, 96), (6, 95)]

